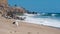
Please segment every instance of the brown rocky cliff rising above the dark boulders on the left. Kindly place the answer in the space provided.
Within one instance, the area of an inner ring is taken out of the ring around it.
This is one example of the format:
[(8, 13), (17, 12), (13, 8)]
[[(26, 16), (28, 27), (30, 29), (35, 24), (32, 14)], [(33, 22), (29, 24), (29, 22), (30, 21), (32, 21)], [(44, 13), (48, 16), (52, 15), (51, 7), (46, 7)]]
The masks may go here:
[[(12, 0), (13, 1), (13, 0)], [(13, 13), (25, 13), (25, 9), (20, 7), (10, 7), (7, 0), (0, 0), (0, 13), (5, 16), (11, 16)], [(9, 14), (8, 14), (9, 13)], [(14, 17), (14, 16), (13, 16)]]

